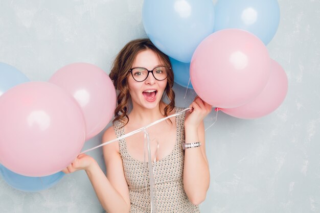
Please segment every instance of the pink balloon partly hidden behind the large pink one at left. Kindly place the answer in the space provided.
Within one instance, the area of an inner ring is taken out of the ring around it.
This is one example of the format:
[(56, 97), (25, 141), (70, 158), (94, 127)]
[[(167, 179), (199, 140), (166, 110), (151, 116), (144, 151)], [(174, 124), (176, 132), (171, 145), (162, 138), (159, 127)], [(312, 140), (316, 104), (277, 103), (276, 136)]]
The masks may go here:
[(96, 136), (112, 119), (116, 108), (116, 90), (109, 76), (89, 63), (69, 64), (49, 80), (70, 93), (82, 108), (86, 140)]

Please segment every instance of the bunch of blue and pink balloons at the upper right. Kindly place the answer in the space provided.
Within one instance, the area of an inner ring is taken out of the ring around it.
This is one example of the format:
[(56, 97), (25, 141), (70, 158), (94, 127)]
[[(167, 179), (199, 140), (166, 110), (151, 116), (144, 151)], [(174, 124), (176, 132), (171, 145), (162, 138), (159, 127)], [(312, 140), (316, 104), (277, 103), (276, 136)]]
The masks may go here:
[(270, 59), (279, 26), (277, 0), (145, 0), (143, 24), (171, 60), (175, 82), (224, 113), (242, 119), (269, 114), (288, 81)]

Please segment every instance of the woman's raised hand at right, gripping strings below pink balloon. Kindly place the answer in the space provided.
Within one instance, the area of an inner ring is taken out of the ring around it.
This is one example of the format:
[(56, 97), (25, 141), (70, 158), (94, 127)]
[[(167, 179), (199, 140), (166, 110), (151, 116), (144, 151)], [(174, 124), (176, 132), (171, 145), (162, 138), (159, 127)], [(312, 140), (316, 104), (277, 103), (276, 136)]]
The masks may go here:
[(187, 112), (185, 127), (198, 128), (199, 124), (203, 121), (204, 117), (207, 116), (211, 110), (212, 106), (196, 97), (194, 101), (189, 106), (191, 109)]

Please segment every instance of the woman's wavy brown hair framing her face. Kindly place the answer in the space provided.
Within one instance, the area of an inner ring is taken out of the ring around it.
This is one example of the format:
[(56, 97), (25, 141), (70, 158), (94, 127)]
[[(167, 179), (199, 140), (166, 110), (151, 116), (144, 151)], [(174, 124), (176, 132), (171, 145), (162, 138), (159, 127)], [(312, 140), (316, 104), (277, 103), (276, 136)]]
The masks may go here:
[[(129, 122), (128, 113), (128, 101), (130, 98), (128, 77), (130, 75), (129, 69), (134, 63), (136, 55), (144, 50), (152, 50), (159, 59), (164, 63), (166, 67), (171, 67), (169, 57), (159, 51), (156, 46), (147, 38), (135, 39), (127, 43), (124, 48), (119, 52), (115, 61), (113, 62), (109, 77), (111, 78), (113, 85), (119, 91), (117, 97), (117, 107), (115, 109), (115, 118), (112, 123), (121, 121), (124, 125)], [(165, 94), (168, 97), (170, 103), (164, 109), (164, 116), (168, 116), (168, 113), (174, 108), (174, 91), (173, 86), (173, 72), (172, 69), (168, 69), (167, 85), (163, 93), (162, 101), (165, 98)], [(159, 105), (160, 106), (160, 105)], [(169, 120), (170, 121), (170, 120)], [(171, 122), (171, 121), (170, 121)]]

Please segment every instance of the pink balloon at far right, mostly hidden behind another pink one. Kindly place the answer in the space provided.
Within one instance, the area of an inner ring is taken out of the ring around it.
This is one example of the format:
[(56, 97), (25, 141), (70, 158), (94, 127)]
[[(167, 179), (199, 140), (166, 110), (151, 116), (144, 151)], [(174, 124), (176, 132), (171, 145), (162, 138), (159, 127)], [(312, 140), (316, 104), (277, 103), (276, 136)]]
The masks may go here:
[(271, 74), (263, 91), (243, 106), (221, 111), (239, 119), (256, 119), (276, 110), (285, 99), (287, 91), (287, 75), (281, 65), (271, 59)]

